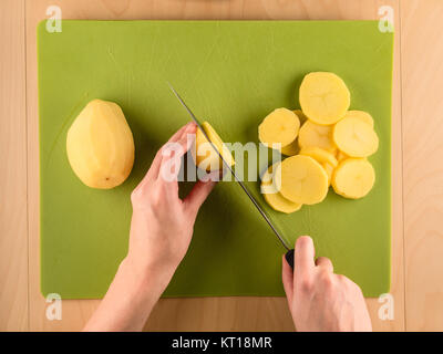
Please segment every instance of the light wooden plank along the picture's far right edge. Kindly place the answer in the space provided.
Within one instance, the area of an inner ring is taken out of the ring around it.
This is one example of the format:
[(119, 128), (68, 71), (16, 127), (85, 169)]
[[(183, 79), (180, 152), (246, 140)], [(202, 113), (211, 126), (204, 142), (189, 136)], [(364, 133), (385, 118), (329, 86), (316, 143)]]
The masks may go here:
[(443, 2), (401, 14), (406, 330), (443, 331)]

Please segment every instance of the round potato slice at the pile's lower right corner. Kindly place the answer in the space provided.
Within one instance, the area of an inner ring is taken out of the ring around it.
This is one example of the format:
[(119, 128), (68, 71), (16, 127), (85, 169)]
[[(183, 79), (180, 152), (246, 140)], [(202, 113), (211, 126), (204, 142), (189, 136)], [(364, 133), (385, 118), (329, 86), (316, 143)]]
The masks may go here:
[(348, 158), (343, 160), (332, 175), (333, 190), (344, 198), (359, 199), (373, 187), (375, 171), (367, 159)]

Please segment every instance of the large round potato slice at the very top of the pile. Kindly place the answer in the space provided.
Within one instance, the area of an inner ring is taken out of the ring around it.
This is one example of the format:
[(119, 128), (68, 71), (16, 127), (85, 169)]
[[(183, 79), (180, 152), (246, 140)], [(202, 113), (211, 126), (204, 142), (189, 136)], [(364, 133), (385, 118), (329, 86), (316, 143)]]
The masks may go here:
[(351, 94), (344, 82), (336, 74), (313, 72), (303, 77), (299, 100), (302, 112), (310, 121), (330, 125), (344, 116)]

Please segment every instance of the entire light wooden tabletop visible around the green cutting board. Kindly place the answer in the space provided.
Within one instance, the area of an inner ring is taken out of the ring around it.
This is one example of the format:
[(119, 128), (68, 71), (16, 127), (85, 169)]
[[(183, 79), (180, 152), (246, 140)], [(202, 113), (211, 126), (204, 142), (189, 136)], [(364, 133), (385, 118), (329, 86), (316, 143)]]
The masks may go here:
[[(63, 301), (45, 316), (39, 282), (35, 25), (63, 19), (379, 19), (394, 13), (392, 104), (393, 319), (368, 299), (377, 331), (443, 330), (443, 1), (440, 0), (1, 0), (0, 331), (76, 331), (97, 300)], [(442, 198), (442, 199), (440, 199)], [(151, 331), (292, 331), (282, 298), (164, 299)]]

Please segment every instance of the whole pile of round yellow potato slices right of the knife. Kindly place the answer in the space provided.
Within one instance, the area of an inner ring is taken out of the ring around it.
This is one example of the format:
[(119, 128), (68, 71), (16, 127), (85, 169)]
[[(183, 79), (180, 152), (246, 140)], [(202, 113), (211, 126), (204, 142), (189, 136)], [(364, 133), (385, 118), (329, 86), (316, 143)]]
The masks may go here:
[(350, 199), (372, 189), (375, 171), (367, 159), (379, 147), (372, 116), (349, 111), (351, 95), (338, 75), (307, 74), (300, 85), (301, 110), (277, 108), (258, 127), (261, 144), (287, 156), (261, 176), (261, 192), (281, 212), (324, 200), (329, 187)]

